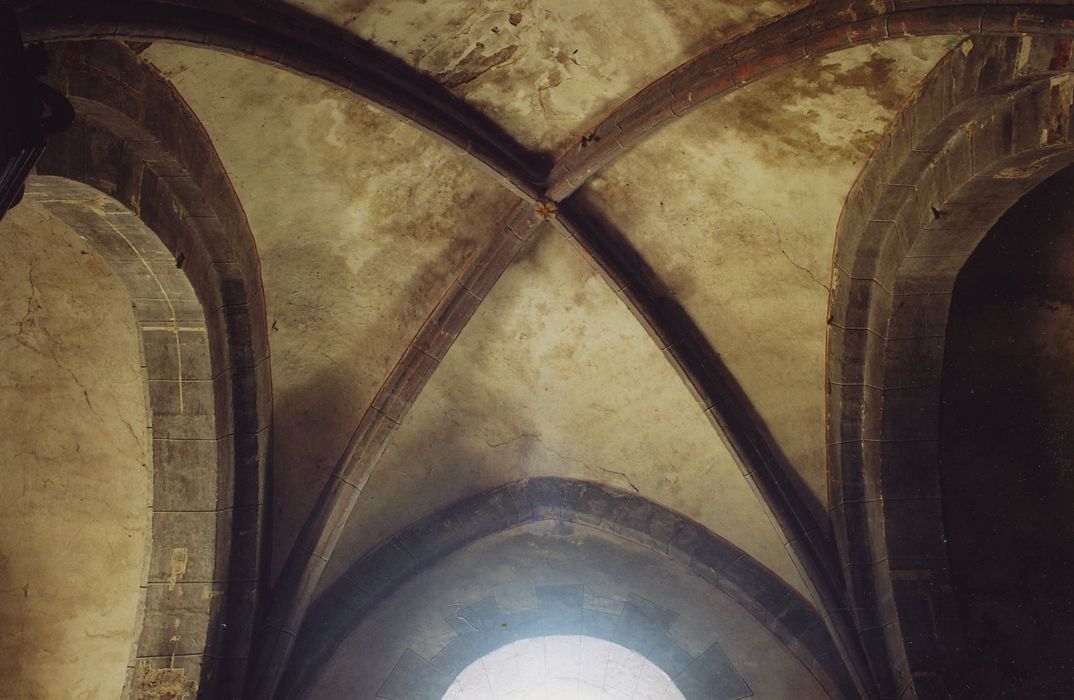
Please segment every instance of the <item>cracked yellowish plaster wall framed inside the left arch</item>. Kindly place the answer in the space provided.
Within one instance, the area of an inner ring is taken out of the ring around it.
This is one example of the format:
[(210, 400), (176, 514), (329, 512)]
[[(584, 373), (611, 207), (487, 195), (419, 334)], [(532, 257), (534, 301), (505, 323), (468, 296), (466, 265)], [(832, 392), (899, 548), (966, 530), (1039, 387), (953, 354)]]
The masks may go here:
[(0, 696), (119, 697), (148, 531), (130, 297), (29, 202), (0, 223)]

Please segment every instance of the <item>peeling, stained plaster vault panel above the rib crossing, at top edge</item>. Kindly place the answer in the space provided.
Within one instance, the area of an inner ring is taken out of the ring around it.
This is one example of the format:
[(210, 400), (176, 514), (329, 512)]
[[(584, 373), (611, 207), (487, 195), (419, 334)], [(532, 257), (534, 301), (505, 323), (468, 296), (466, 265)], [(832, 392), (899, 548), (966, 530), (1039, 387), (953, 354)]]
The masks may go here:
[(557, 150), (722, 39), (800, 0), (292, 0), (462, 96), (523, 145)]

